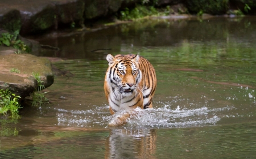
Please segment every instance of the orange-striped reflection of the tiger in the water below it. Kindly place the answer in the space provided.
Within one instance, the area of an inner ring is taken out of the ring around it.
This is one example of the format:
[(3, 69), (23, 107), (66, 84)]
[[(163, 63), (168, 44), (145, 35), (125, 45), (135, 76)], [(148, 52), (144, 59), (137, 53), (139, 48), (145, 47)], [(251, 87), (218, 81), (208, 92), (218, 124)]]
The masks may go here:
[(105, 158), (155, 158), (156, 130), (111, 130)]

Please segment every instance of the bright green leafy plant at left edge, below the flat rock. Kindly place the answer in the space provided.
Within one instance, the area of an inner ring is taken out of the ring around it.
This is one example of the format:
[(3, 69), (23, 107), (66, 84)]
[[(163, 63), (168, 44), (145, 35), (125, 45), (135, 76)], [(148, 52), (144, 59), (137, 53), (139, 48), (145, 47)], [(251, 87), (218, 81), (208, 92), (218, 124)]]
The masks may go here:
[(20, 96), (11, 93), (9, 89), (0, 89), (0, 115), (10, 114), (13, 118), (18, 118), (18, 109), (21, 108), (19, 104)]

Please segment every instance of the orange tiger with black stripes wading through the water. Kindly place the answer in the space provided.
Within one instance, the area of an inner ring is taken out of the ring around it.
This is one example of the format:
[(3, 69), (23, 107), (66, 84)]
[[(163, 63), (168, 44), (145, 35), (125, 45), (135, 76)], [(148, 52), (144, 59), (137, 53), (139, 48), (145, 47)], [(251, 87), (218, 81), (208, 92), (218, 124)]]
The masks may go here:
[[(152, 98), (156, 90), (156, 73), (147, 59), (140, 55), (106, 56), (109, 67), (106, 71), (104, 91), (109, 102), (110, 113), (119, 111), (130, 112), (137, 107), (152, 108)], [(119, 125), (126, 122), (130, 113), (118, 117), (118, 121), (109, 125)]]

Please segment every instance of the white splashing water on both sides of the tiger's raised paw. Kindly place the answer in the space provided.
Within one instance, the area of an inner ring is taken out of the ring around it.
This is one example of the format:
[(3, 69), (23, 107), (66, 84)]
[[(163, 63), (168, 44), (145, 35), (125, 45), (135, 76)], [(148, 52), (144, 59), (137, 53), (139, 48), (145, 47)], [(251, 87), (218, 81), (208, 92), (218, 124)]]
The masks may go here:
[[(195, 109), (182, 109), (177, 106), (171, 109), (170, 105), (163, 108), (140, 109), (137, 108), (131, 114), (125, 127), (136, 128), (171, 128), (212, 126), (220, 121), (222, 111), (228, 111), (233, 107), (209, 109), (207, 107)], [(90, 110), (64, 110), (58, 109), (57, 120), (61, 126), (77, 127), (108, 127), (108, 123), (118, 115), (110, 115), (109, 106), (94, 106)]]

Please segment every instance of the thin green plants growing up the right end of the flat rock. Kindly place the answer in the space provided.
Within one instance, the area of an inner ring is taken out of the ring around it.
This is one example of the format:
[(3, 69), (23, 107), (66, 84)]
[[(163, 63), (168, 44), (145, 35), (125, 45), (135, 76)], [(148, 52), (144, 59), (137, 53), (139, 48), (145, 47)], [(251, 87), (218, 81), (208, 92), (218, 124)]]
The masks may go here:
[(44, 103), (49, 103), (48, 98), (44, 96), (44, 94), (47, 92), (40, 92), (44, 89), (44, 85), (42, 84), (43, 81), (41, 80), (40, 75), (32, 72), (32, 76), (34, 76), (37, 81), (36, 91), (32, 93), (32, 106), (41, 106)]

